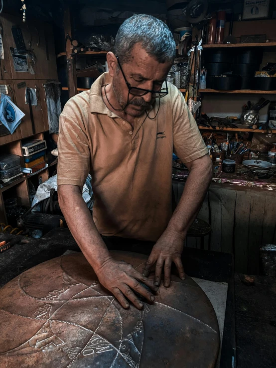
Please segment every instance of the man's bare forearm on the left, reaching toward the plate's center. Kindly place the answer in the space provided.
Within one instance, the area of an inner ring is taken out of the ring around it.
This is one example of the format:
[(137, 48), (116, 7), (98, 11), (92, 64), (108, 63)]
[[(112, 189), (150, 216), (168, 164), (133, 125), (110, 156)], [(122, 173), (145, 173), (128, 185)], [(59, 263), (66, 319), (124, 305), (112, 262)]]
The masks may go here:
[(100, 269), (111, 256), (82, 198), (80, 188), (73, 185), (59, 186), (58, 201), (76, 243), (92, 267)]

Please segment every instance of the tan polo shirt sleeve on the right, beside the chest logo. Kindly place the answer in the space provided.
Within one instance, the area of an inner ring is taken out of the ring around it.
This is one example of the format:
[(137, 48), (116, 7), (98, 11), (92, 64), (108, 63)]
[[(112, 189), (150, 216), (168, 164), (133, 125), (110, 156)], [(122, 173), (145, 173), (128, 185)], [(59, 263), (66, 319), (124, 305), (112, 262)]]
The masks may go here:
[(197, 124), (182, 93), (175, 91), (173, 99), (173, 152), (183, 163), (208, 153)]

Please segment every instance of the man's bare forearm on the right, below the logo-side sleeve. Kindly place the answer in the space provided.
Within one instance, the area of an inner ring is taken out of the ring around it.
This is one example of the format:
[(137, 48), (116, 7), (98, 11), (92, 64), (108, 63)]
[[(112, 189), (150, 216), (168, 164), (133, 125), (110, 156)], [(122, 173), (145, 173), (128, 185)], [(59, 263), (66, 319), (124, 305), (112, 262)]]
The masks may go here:
[(190, 167), (182, 196), (167, 227), (168, 231), (177, 232), (183, 238), (195, 220), (212, 180), (213, 165), (209, 156), (202, 160), (202, 165), (195, 162)]

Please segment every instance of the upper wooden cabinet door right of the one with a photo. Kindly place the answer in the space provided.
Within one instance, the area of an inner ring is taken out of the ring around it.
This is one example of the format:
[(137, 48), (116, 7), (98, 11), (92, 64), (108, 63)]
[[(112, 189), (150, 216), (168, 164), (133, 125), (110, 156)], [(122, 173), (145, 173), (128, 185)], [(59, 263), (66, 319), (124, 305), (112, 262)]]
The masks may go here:
[(53, 27), (48, 23), (37, 23), (39, 42), (34, 44), (37, 58), (38, 79), (56, 79), (57, 64)]

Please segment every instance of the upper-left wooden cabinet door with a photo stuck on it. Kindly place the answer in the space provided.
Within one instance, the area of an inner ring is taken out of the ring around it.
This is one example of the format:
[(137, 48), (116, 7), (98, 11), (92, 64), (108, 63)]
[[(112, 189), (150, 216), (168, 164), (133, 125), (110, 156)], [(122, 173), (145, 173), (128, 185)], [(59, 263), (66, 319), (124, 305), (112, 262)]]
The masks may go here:
[[(21, 29), (26, 50), (33, 50), (29, 53), (22, 52), (16, 55), (13, 48), (16, 48), (12, 35), (12, 26)], [(3, 14), (3, 37), (6, 42), (6, 53), (9, 53), (10, 68), (13, 79), (35, 79), (38, 76), (38, 66), (35, 55), (35, 44), (38, 42), (38, 30), (30, 22), (23, 23), (21, 17), (10, 14)], [(22, 71), (23, 70), (23, 71)]]

